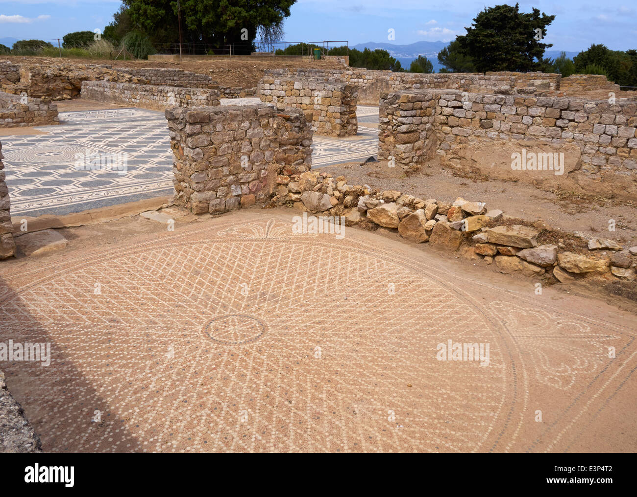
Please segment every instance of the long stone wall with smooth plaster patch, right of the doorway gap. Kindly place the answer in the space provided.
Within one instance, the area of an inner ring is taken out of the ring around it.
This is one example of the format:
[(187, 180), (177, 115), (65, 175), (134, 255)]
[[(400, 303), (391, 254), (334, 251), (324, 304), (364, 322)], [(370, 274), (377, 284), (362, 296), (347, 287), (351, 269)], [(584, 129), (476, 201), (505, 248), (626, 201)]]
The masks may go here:
[[(434, 107), (427, 153), (401, 144), (412, 131), (397, 116), (410, 116), (414, 101)], [(411, 158), (412, 168), (435, 153), (443, 164), (489, 177), (634, 199), (636, 133), (637, 104), (629, 101), (412, 91), (383, 94), (379, 153), (397, 163)]]

